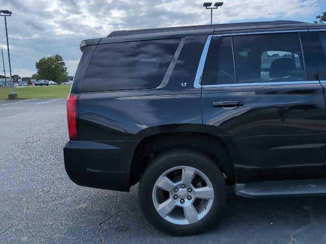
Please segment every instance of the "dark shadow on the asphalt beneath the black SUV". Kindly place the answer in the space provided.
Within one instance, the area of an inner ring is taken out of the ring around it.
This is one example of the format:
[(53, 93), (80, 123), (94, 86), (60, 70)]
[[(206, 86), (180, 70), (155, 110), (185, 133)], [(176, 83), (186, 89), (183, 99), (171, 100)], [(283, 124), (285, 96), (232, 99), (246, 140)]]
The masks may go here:
[[(221, 243), (294, 243), (297, 239), (309, 242), (312, 236), (318, 236), (315, 242), (309, 243), (326, 241), (326, 196), (250, 199), (235, 195), (234, 187), (228, 187), (228, 201), (220, 220), (202, 234), (176, 237), (158, 231), (145, 220), (137, 192), (135, 186), (130, 194), (120, 196), (118, 214), (103, 224), (103, 240), (115, 240), (115, 243), (149, 240), (159, 243), (217, 243), (216, 240)], [(123, 241), (117, 241), (118, 237), (123, 237)]]

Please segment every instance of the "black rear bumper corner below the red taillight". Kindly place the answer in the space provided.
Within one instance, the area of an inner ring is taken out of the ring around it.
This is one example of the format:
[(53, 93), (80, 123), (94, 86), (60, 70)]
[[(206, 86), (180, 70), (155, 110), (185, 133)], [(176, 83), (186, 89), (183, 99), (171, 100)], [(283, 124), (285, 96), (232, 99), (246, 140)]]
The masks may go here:
[(129, 191), (134, 144), (68, 141), (63, 149), (66, 172), (79, 186)]

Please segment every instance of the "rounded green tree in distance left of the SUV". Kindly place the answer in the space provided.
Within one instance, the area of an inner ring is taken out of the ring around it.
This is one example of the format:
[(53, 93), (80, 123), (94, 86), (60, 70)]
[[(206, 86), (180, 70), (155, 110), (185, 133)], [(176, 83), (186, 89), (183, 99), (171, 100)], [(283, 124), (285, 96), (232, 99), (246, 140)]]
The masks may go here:
[(67, 80), (67, 67), (59, 54), (42, 57), (35, 63), (35, 67), (37, 73), (32, 76), (33, 79), (53, 80), (59, 84), (63, 80)]

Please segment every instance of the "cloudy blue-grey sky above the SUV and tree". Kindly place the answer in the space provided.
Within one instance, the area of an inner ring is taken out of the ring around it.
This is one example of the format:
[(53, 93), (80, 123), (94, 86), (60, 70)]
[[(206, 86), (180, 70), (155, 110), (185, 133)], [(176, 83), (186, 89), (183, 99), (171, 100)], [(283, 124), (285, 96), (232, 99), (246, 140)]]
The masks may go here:
[[(41, 57), (60, 54), (74, 75), (84, 39), (105, 37), (112, 31), (208, 24), (207, 0), (0, 0), (7, 18), (11, 66), (21, 77), (36, 73)], [(224, 0), (213, 13), (214, 23), (275, 19), (312, 22), (326, 11), (324, 0)], [(0, 18), (0, 48), (9, 73), (4, 18)], [(0, 74), (3, 74), (0, 64)]]

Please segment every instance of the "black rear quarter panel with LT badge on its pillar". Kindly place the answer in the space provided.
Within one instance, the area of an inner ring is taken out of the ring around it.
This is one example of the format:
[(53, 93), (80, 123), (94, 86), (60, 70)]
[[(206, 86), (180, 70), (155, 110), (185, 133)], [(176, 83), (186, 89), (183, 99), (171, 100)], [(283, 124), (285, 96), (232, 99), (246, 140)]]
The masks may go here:
[[(80, 93), (79, 139), (139, 141), (152, 127), (202, 125), (201, 90), (194, 89), (193, 81), (206, 39), (207, 35), (185, 38), (172, 73), (166, 74), (171, 77), (164, 86)], [(159, 129), (151, 133), (159, 133)]]

